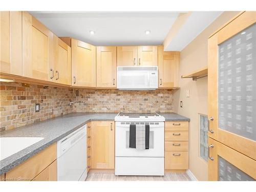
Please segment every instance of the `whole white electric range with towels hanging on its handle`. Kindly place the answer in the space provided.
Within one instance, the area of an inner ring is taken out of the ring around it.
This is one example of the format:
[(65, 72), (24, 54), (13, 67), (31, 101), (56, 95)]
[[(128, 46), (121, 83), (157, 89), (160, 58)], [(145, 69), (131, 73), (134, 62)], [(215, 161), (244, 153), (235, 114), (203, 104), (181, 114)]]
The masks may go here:
[[(164, 175), (164, 121), (157, 113), (119, 113), (115, 117), (115, 175)], [(129, 147), (130, 124), (150, 125), (150, 147)]]

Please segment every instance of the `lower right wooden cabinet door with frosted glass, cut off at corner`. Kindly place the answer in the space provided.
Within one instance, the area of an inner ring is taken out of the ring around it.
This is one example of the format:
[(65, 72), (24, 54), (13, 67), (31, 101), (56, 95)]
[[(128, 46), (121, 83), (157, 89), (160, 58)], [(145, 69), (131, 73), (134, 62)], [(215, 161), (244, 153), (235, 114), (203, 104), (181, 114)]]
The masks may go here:
[(254, 181), (256, 161), (232, 148), (208, 138), (209, 181)]

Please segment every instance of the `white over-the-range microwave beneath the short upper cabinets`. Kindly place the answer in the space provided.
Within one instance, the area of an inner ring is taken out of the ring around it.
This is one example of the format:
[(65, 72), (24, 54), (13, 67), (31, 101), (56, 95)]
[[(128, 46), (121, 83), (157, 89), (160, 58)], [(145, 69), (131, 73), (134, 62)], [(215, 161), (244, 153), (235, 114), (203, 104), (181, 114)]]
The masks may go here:
[(117, 89), (155, 90), (158, 88), (158, 67), (117, 67)]

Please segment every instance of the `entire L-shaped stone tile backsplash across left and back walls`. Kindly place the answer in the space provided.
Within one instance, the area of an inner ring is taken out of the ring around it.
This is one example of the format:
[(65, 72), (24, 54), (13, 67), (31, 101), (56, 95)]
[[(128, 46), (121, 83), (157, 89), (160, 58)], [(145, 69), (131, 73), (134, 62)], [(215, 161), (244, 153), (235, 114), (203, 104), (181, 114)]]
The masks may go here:
[[(0, 132), (73, 112), (172, 112), (173, 91), (79, 89), (20, 82), (0, 83)], [(35, 103), (40, 111), (35, 112)]]

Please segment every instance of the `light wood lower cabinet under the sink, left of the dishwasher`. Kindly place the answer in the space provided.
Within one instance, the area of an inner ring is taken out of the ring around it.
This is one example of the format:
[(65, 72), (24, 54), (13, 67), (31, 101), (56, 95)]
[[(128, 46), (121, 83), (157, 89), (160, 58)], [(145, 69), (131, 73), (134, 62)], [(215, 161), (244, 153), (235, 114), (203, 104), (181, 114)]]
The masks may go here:
[[(31, 181), (46, 168), (48, 169), (41, 176), (38, 176), (38, 178), (55, 178), (54, 174), (56, 175), (56, 172), (54, 170), (57, 171), (57, 169), (54, 169), (55, 165), (48, 166), (56, 160), (56, 146), (56, 143), (50, 145), (45, 150), (7, 172), (5, 176), (6, 181)], [(47, 174), (48, 176), (46, 177), (45, 175)]]

